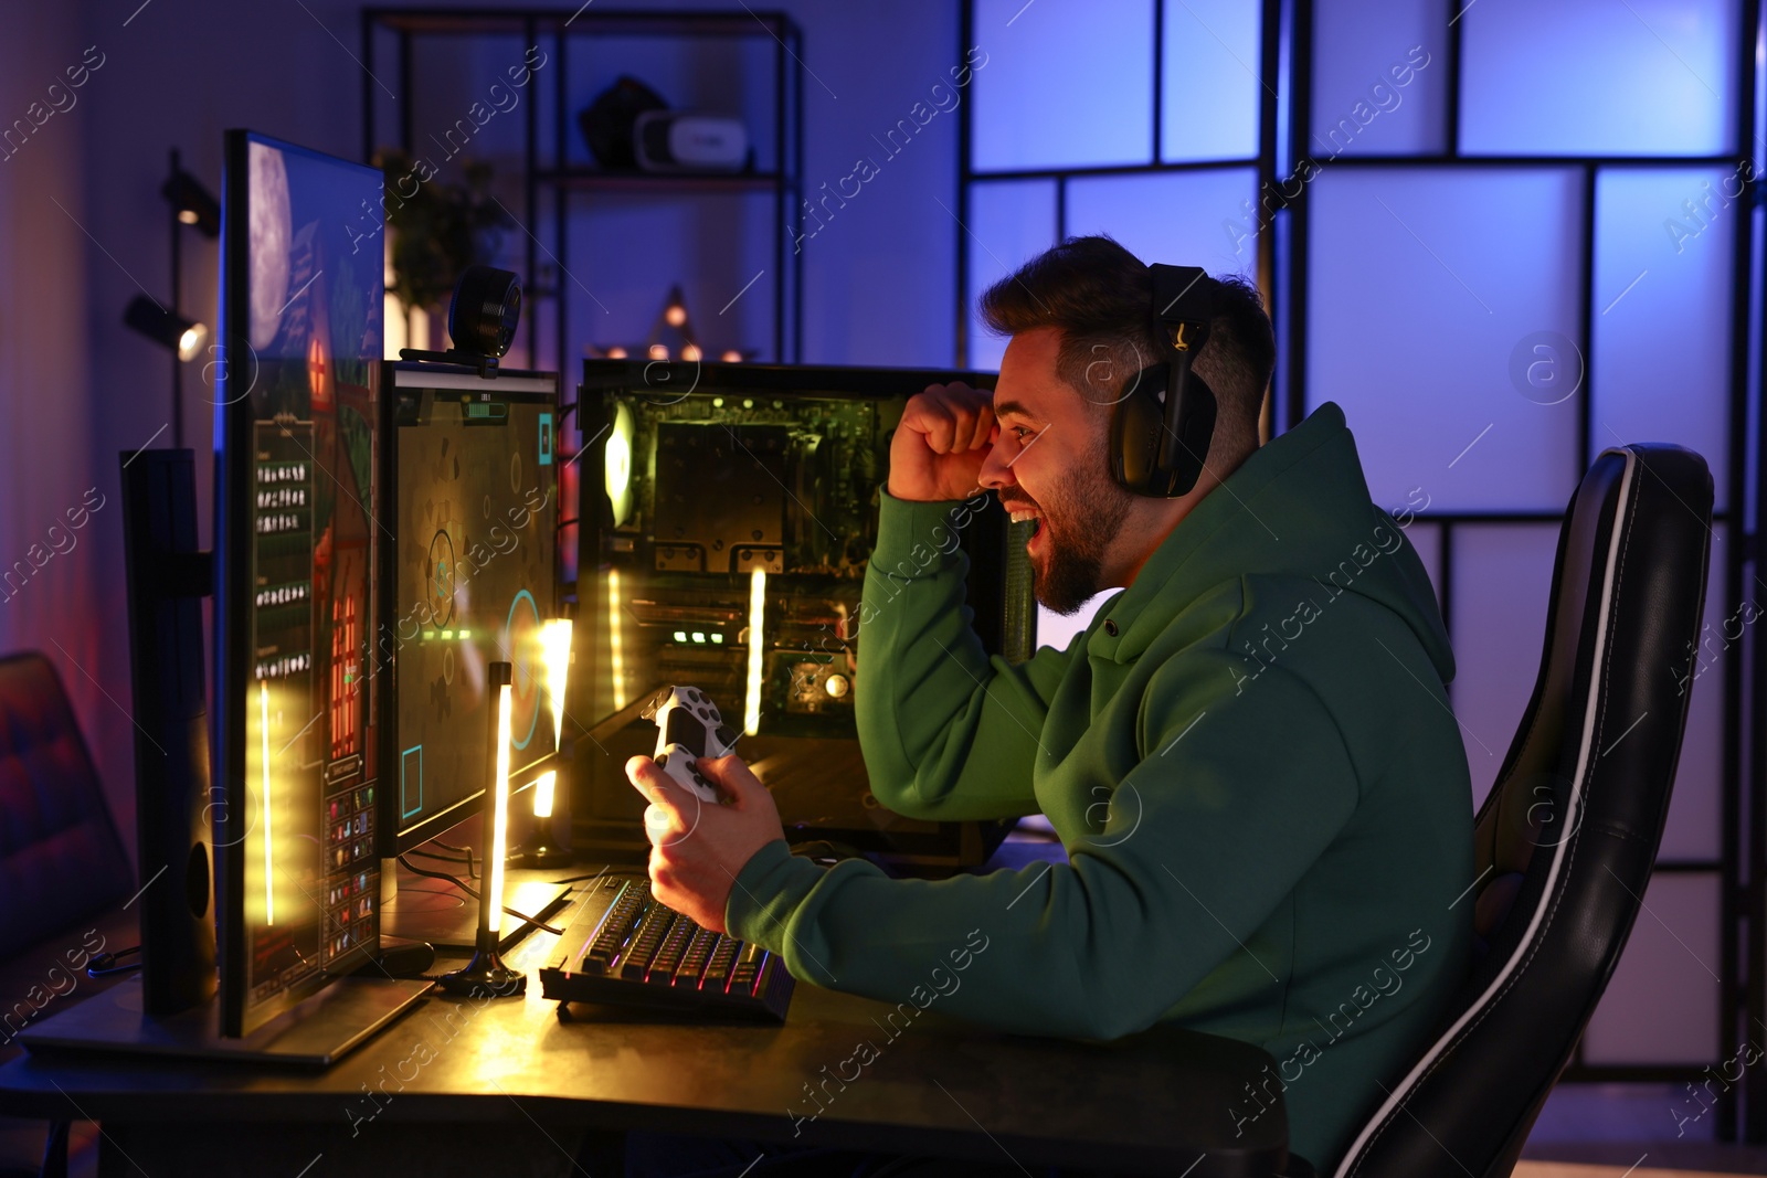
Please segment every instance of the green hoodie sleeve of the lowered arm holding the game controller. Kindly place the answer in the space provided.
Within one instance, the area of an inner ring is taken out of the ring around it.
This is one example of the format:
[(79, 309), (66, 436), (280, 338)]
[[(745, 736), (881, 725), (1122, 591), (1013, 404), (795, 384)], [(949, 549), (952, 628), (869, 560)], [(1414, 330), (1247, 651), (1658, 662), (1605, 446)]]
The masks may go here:
[(737, 878), (730, 929), (818, 985), (1025, 1033), (1127, 1035), (1217, 970), (1235, 994), (1283, 991), (1288, 938), (1258, 931), (1359, 788), (1309, 687), (1270, 671), (1235, 694), (1230, 662), (1193, 652), (1156, 673), (1140, 763), (1064, 832), (1069, 864), (891, 880), (772, 842)]

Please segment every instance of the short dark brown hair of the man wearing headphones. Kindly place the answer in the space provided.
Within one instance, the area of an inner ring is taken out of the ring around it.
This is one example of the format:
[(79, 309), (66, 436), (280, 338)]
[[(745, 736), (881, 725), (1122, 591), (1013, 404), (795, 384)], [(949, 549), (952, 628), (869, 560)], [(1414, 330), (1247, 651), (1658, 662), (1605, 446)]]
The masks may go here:
[[(1276, 336), (1256, 286), (1237, 276), (1216, 281), (1216, 316), (1196, 373), (1219, 403), (1210, 466), (1219, 459), (1232, 468), (1258, 449)], [(1113, 404), (1134, 373), (1164, 353), (1152, 300), (1154, 279), (1140, 258), (1110, 237), (1069, 237), (982, 291), (981, 314), (1000, 336), (1060, 328), (1057, 373), (1088, 401)]]

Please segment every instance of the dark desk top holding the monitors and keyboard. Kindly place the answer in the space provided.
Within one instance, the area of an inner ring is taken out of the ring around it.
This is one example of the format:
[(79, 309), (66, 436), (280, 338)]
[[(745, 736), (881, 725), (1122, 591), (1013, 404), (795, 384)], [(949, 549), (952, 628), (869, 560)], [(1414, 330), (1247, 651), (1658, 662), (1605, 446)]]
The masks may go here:
[[(435, 1173), (578, 1174), (587, 1132), (627, 1129), (1187, 1178), (1265, 1178), (1286, 1159), (1279, 1109), (1235, 1137), (1228, 1104), (1270, 1063), (1248, 1044), (1179, 1028), (1044, 1040), (937, 1005), (891, 1040), (894, 1007), (808, 984), (785, 1026), (603, 1007), (562, 1023), (532, 977), (555, 940), (509, 954), (525, 998), (431, 994), (323, 1072), (37, 1054), (0, 1067), (0, 1114), (97, 1120), (101, 1173), (148, 1178), (382, 1178), (424, 1173), (426, 1153), (449, 1162)], [(880, 1054), (820, 1088), (862, 1042)], [(820, 1116), (806, 1084), (832, 1093)], [(474, 1152), (502, 1164), (474, 1169)]]

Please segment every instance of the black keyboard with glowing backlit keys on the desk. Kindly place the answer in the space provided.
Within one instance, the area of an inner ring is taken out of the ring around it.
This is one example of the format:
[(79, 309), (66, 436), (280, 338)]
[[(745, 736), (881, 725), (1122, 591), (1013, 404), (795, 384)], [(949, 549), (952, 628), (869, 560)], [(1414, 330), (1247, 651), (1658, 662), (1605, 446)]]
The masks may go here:
[(541, 970), (541, 993), (557, 1001), (776, 1023), (785, 1021), (793, 985), (777, 954), (664, 908), (647, 878), (601, 880)]

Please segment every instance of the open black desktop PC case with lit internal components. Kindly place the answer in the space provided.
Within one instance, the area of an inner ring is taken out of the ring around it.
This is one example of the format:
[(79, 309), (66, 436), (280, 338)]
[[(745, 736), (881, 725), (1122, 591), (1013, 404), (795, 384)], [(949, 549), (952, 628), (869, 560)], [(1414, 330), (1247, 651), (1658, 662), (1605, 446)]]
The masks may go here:
[[(786, 837), (938, 874), (982, 862), (1009, 823), (931, 823), (884, 809), (853, 717), (864, 572), (891, 436), (931, 383), (991, 373), (585, 360), (580, 620), (571, 715), (580, 853), (641, 857), (645, 800), (624, 763), (648, 754), (645, 705), (707, 691), (772, 791)], [(1025, 528), (991, 496), (961, 530), (984, 646), (1035, 648)], [(760, 648), (753, 645), (756, 623)]]

